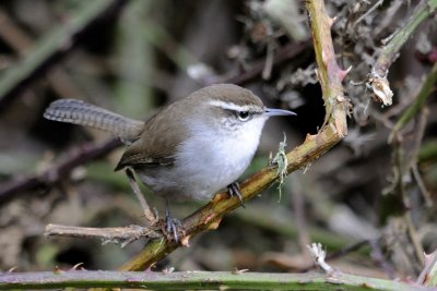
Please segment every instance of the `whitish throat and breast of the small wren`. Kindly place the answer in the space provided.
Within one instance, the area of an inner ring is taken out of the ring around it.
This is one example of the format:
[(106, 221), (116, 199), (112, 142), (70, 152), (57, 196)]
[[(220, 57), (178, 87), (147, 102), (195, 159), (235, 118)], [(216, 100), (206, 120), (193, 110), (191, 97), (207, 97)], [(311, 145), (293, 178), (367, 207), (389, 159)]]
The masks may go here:
[(191, 123), (192, 135), (179, 146), (175, 163), (186, 177), (182, 192), (190, 192), (197, 199), (210, 199), (235, 182), (250, 165), (264, 122), (259, 117), (231, 132)]

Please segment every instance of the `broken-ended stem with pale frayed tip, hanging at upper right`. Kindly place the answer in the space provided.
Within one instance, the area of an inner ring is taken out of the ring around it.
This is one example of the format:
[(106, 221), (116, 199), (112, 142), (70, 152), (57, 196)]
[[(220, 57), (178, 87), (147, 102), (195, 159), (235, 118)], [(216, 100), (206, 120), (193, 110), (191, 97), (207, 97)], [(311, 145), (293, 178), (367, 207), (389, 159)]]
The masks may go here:
[(382, 48), (368, 77), (368, 86), (371, 87), (377, 101), (382, 102), (385, 106), (390, 106), (392, 104), (391, 97), (393, 93), (387, 80), (389, 68), (398, 58), (399, 51), (405, 41), (412, 36), (418, 25), (434, 13), (436, 8), (437, 0), (422, 0), (421, 3), (416, 5), (405, 25), (389, 37), (389, 43)]

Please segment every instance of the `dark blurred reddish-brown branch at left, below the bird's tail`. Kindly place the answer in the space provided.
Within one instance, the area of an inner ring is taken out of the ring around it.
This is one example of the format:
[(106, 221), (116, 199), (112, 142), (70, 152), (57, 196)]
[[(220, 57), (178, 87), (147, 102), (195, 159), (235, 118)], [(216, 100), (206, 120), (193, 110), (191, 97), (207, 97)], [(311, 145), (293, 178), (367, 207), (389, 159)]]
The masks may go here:
[(85, 145), (80, 149), (74, 149), (67, 160), (47, 169), (42, 174), (9, 181), (0, 189), (0, 204), (11, 199), (15, 194), (23, 195), (35, 189), (50, 186), (69, 175), (75, 167), (99, 158), (120, 145), (121, 142), (118, 140), (110, 140), (98, 145)]

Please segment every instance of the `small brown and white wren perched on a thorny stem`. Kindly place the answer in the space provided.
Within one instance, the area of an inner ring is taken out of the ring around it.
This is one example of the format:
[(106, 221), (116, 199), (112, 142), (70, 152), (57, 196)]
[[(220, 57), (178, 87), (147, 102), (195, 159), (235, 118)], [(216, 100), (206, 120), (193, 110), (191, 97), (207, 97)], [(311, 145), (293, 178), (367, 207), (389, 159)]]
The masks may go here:
[(265, 108), (250, 90), (231, 84), (199, 89), (146, 122), (83, 101), (54, 101), (50, 120), (109, 131), (127, 145), (116, 170), (131, 167), (169, 201), (210, 199), (249, 166), (264, 122), (292, 111)]

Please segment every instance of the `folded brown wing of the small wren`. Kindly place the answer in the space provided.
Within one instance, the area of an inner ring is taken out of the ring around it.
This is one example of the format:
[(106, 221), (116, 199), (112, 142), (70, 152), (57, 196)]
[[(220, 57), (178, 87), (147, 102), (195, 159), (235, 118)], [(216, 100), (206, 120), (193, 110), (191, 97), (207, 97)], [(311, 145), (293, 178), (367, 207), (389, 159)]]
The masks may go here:
[(116, 171), (129, 166), (158, 167), (174, 162), (176, 147), (188, 134), (181, 118), (178, 118), (180, 114), (174, 114), (182, 100), (169, 105), (145, 122), (143, 133), (126, 149)]

